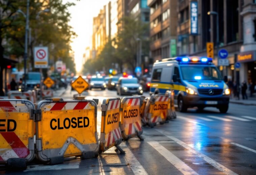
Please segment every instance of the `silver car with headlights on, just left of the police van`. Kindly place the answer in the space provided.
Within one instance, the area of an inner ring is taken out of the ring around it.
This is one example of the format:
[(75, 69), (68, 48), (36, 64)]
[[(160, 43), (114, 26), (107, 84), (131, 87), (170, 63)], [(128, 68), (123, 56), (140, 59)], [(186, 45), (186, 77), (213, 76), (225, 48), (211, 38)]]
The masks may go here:
[(124, 78), (120, 77), (117, 84), (117, 94), (143, 94), (143, 88), (139, 84), (137, 78)]

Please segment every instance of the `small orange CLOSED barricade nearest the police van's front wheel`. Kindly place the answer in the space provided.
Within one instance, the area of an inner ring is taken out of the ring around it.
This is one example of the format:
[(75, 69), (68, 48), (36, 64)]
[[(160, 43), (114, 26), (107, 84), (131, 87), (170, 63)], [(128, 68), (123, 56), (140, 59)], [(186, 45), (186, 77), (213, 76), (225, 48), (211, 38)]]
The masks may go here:
[(163, 124), (167, 119), (169, 96), (165, 94), (153, 94), (150, 100), (146, 104), (148, 107), (148, 113), (146, 117), (148, 119), (148, 125), (154, 127), (157, 123)]

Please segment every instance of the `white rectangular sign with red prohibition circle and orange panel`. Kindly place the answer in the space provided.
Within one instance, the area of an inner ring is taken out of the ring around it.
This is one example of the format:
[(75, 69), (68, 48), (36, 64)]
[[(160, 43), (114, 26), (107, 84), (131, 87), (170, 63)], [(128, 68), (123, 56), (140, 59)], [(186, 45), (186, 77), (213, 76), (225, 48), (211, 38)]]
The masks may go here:
[(34, 48), (34, 67), (35, 68), (48, 67), (48, 47)]

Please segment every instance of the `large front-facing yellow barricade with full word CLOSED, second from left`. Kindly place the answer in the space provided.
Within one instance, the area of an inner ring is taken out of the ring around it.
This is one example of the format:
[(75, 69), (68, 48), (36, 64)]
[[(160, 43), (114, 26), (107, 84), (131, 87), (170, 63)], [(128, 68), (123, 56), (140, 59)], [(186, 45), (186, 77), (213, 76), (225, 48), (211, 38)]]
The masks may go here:
[(47, 98), (40, 101), (36, 109), (36, 155), (40, 161), (55, 165), (63, 163), (64, 157), (98, 156), (94, 100)]

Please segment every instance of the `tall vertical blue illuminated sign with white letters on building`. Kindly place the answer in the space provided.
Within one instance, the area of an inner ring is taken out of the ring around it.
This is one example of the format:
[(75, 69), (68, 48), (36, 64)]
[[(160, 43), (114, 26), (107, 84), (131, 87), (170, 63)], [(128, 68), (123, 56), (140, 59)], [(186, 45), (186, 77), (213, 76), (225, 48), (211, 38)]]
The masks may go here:
[(190, 34), (198, 34), (198, 5), (196, 1), (190, 2)]

